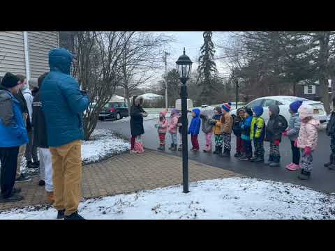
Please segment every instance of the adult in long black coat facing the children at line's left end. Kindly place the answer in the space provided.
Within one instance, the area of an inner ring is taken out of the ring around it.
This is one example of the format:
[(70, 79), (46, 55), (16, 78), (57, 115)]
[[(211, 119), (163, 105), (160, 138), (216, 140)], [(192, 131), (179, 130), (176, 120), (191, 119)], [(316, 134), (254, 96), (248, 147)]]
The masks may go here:
[(136, 138), (140, 139), (144, 135), (143, 118), (147, 117), (147, 112), (144, 111), (142, 105), (144, 98), (142, 96), (134, 96), (131, 105), (131, 153), (135, 152)]

